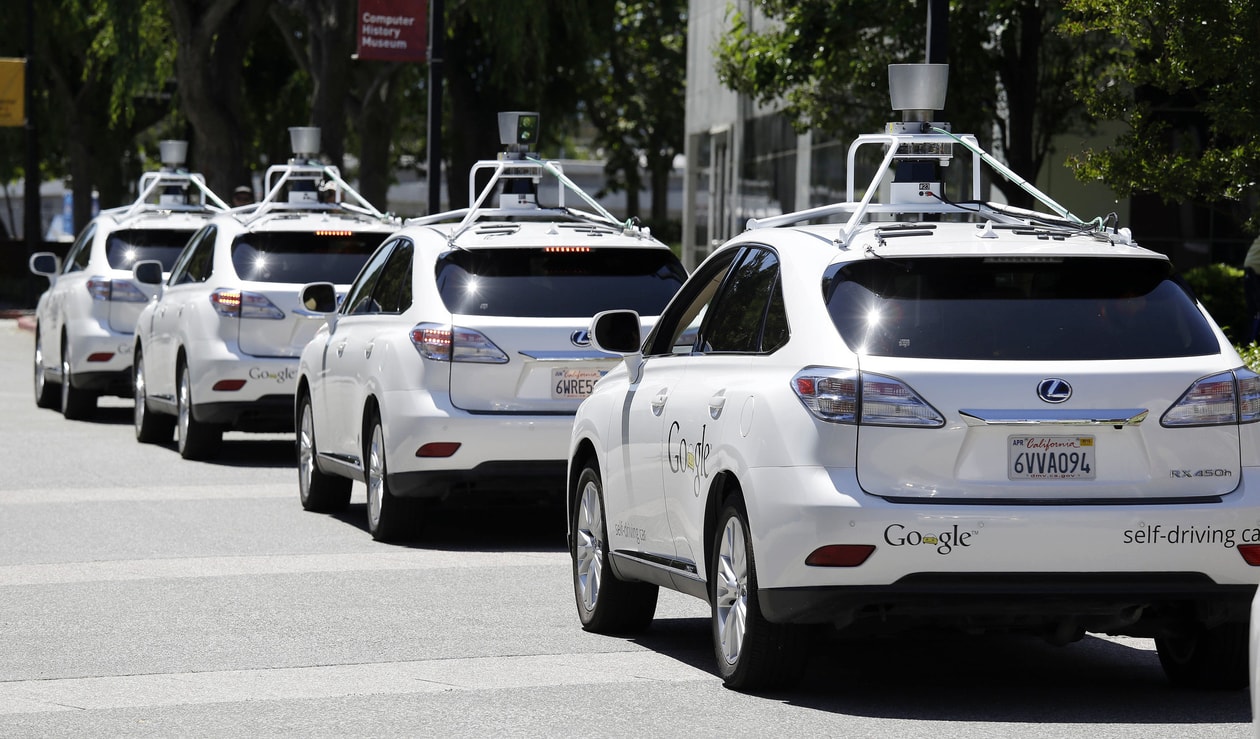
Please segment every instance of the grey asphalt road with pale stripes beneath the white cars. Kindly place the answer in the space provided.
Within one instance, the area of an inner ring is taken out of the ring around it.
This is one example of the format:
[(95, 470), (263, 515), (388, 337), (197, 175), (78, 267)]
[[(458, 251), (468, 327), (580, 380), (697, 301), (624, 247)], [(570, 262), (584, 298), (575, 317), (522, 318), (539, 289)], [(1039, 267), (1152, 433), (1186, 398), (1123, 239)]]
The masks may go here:
[(0, 321), (0, 736), (1251, 735), (1245, 691), (1169, 687), (1147, 640), (832, 640), (799, 689), (733, 692), (699, 601), (581, 631), (556, 510), (377, 544), (362, 485), (301, 510), (289, 437), (185, 462), (130, 403), (37, 409), (32, 345)]

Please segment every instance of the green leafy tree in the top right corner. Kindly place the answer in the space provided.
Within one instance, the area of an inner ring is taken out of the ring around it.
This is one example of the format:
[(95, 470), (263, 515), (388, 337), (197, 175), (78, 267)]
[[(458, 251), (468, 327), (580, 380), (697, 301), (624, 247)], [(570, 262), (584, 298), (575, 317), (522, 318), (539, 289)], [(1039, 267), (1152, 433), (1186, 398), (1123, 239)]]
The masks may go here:
[[(1102, 149), (1071, 157), (1077, 178), (1120, 195), (1153, 193), (1250, 215), (1260, 179), (1260, 3), (1066, 0), (1065, 28), (1102, 35), (1101, 72), (1080, 69), (1090, 113), (1120, 121)], [(1260, 222), (1251, 217), (1252, 230)]]

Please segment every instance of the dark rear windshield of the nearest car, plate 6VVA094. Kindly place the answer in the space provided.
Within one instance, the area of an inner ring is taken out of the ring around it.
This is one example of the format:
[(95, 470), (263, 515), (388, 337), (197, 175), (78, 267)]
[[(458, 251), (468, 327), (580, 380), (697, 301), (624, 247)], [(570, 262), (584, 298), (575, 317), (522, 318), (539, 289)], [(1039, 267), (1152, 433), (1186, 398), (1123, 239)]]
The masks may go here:
[(854, 351), (1086, 360), (1218, 354), (1162, 259), (912, 258), (834, 266), (832, 321)]

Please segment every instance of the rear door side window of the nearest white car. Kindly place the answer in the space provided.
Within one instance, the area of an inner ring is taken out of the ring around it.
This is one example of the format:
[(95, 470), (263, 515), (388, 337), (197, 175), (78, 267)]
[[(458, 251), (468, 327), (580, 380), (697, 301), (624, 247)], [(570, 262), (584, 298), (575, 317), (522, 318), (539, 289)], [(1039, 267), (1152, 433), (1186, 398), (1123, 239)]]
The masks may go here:
[[(782, 296), (777, 293), (779, 257), (766, 248), (748, 249), (741, 259), (726, 288), (722, 291), (706, 325), (701, 330), (701, 351), (753, 354), (770, 351), (786, 340), (786, 315)], [(770, 319), (774, 298), (779, 295), (776, 315)], [(762, 346), (762, 331), (774, 324)]]

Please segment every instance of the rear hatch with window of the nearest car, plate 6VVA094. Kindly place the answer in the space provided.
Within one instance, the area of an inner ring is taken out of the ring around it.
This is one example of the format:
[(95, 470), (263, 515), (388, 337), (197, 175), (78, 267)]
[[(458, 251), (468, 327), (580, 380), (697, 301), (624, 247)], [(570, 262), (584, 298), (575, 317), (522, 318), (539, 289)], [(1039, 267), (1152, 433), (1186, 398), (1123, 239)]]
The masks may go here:
[(935, 412), (863, 422), (872, 495), (1193, 500), (1241, 481), (1236, 358), (1163, 259), (872, 259), (832, 277), (863, 412), (910, 393)]

